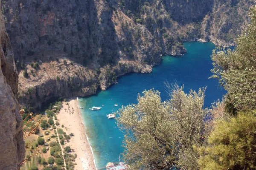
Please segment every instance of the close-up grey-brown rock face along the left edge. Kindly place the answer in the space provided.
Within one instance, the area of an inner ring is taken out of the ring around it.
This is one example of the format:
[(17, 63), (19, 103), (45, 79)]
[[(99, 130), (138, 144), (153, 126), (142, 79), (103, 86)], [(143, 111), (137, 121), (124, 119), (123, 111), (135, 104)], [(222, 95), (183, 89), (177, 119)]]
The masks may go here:
[(2, 12), (0, 12), (0, 65), (0, 169), (17, 170), (25, 156), (25, 147), (22, 119), (15, 97), (18, 92), (17, 71)]

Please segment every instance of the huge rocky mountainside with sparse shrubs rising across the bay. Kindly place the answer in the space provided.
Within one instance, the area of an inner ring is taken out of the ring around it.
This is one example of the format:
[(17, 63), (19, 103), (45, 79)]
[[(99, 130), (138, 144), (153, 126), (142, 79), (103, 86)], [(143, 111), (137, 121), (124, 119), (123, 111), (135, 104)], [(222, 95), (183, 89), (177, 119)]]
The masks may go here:
[[(150, 72), (183, 41), (234, 45), (253, 0), (2, 0), (20, 101), (40, 108)], [(39, 66), (38, 66), (39, 65)], [(68, 89), (72, 89), (68, 91)]]

